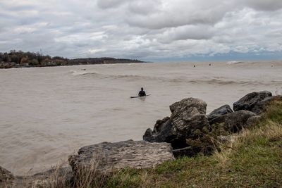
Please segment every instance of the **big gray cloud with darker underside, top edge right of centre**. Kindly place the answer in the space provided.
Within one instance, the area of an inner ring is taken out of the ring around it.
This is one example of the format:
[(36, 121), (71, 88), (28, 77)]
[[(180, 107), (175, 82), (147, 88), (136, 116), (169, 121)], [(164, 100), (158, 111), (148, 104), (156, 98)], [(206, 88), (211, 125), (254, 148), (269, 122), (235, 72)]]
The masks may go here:
[(218, 0), (198, 0), (197, 3), (195, 1), (175, 0), (170, 4), (166, 1), (160, 1), (159, 9), (154, 13), (132, 15), (126, 18), (126, 21), (129, 25), (149, 29), (196, 24), (213, 25), (219, 22), (232, 6), (232, 2), (221, 5), (221, 1)]

